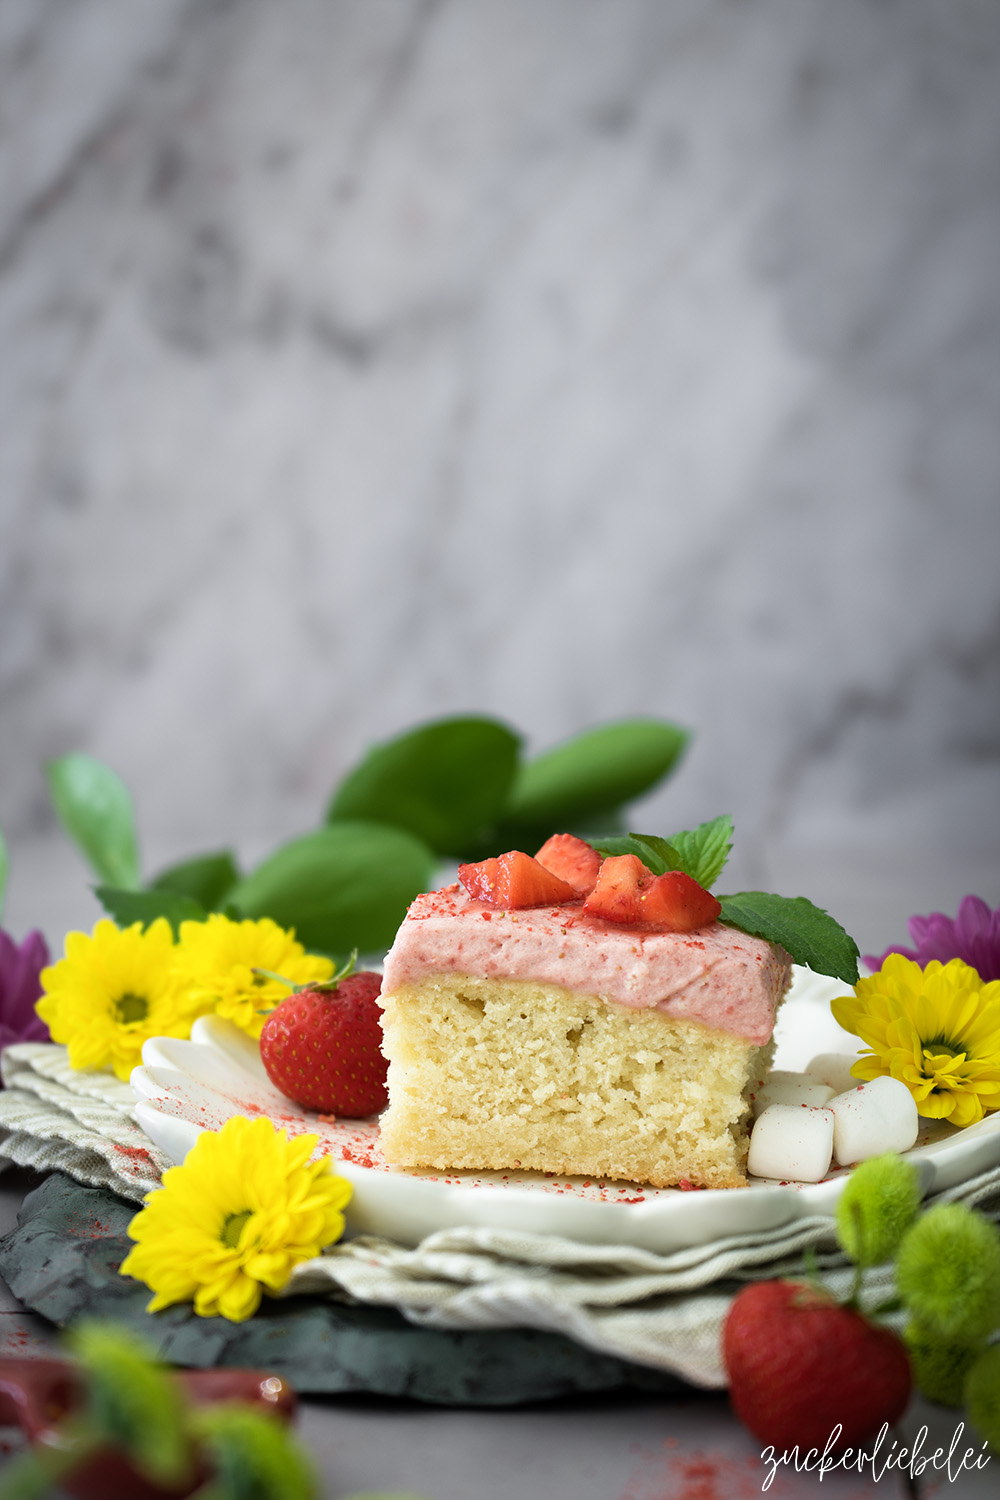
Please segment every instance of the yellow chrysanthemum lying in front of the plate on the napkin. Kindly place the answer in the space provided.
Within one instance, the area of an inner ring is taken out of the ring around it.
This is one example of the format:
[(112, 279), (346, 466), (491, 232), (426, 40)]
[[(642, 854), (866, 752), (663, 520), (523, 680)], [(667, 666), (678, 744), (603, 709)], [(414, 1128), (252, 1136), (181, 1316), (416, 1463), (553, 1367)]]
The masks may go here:
[(129, 1224), (136, 1246), (120, 1270), (156, 1293), (148, 1312), (193, 1298), (201, 1317), (241, 1323), (262, 1290), (280, 1292), (300, 1260), (340, 1238), (351, 1184), (327, 1156), (307, 1160), (318, 1140), (241, 1116), (198, 1137)]

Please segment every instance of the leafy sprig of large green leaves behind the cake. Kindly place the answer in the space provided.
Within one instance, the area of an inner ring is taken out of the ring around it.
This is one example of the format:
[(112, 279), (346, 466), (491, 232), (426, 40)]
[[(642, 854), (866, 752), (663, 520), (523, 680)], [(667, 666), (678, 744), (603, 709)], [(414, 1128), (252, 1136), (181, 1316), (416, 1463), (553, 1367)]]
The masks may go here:
[(270, 916), (336, 957), (388, 946), (442, 858), (531, 850), (567, 828), (622, 828), (622, 806), (661, 782), (688, 740), (667, 720), (624, 718), (525, 758), (523, 736), (484, 714), (417, 724), (348, 770), (316, 832), (279, 846), (246, 876), (220, 850), (144, 880), (132, 796), (117, 772), (72, 753), (51, 762), (48, 783), (117, 922), (165, 916), (177, 930), (211, 912)]

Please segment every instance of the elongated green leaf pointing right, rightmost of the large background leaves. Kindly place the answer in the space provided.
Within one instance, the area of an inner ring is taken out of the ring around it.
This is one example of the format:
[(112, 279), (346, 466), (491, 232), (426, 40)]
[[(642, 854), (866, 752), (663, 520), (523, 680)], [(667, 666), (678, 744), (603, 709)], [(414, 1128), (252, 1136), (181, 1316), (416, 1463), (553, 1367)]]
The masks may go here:
[(663, 718), (622, 718), (588, 729), (522, 765), (504, 825), (549, 832), (607, 826), (609, 814), (649, 792), (690, 740)]

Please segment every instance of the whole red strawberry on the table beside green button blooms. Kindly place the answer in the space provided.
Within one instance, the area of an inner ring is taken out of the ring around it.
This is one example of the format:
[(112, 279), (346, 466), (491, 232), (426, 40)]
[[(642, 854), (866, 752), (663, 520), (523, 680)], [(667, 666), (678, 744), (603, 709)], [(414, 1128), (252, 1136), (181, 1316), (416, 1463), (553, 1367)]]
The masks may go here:
[(723, 1334), (729, 1396), (741, 1422), (777, 1452), (856, 1448), (910, 1400), (910, 1362), (892, 1329), (801, 1281), (757, 1281), (735, 1299)]

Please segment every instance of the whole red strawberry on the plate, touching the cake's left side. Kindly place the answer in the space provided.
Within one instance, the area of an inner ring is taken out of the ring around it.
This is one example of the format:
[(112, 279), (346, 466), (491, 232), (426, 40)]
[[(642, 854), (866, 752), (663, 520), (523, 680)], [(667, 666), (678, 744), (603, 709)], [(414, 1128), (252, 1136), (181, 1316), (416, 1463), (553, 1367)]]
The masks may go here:
[(322, 1114), (358, 1119), (384, 1110), (381, 988), (381, 974), (361, 969), (282, 1000), (261, 1032), (261, 1062), (274, 1088)]

